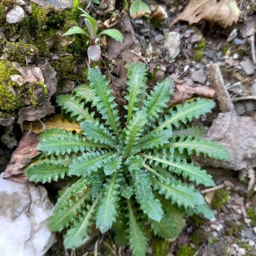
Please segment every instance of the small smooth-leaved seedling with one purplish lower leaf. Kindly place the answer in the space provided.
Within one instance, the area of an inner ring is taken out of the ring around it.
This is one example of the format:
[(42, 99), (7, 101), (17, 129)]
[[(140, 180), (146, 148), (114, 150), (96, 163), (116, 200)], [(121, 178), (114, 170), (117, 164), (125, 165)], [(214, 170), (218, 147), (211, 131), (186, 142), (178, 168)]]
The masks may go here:
[(86, 30), (80, 28), (79, 26), (73, 26), (66, 33), (64, 33), (64, 36), (83, 34), (90, 38), (91, 45), (87, 49), (87, 54), (88, 58), (90, 58), (92, 61), (99, 61), (99, 58), (101, 56), (101, 49), (99, 44), (96, 43), (96, 39), (101, 37), (102, 35), (108, 35), (116, 41), (123, 43), (124, 38), (122, 36), (122, 33), (118, 29), (105, 29), (98, 34), (97, 21), (83, 9), (79, 8), (79, 10), (83, 12), (83, 14), (81, 14), (80, 16), (84, 17), (84, 22), (87, 26), (89, 34)]

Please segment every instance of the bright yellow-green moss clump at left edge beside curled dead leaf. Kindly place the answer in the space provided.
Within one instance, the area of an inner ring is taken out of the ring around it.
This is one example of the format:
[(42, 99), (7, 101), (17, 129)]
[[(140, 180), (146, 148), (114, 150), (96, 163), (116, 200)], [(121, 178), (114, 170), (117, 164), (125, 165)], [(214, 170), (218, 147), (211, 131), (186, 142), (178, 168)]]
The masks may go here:
[(0, 110), (12, 114), (23, 105), (23, 96), (14, 96), (10, 89), (18, 88), (18, 84), (10, 80), (11, 75), (19, 74), (9, 61), (0, 60)]

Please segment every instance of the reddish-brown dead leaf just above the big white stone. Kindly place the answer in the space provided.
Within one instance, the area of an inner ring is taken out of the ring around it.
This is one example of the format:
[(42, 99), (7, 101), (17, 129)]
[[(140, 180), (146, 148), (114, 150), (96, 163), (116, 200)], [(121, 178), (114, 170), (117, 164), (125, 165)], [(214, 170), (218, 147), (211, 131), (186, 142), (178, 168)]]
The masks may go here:
[(40, 154), (40, 151), (37, 149), (38, 143), (37, 134), (25, 133), (17, 148), (12, 153), (11, 160), (5, 169), (3, 178), (18, 183), (25, 183), (26, 175), (22, 172), (22, 168), (30, 163), (32, 158)]

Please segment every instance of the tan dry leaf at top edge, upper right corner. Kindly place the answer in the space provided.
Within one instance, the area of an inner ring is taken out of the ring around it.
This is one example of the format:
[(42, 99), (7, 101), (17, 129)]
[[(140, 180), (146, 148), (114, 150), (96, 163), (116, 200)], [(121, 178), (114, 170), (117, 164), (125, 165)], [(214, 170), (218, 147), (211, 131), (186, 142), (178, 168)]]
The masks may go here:
[(184, 11), (170, 24), (186, 20), (189, 24), (207, 20), (218, 23), (225, 28), (239, 19), (239, 8), (236, 0), (190, 0)]

